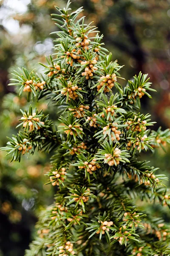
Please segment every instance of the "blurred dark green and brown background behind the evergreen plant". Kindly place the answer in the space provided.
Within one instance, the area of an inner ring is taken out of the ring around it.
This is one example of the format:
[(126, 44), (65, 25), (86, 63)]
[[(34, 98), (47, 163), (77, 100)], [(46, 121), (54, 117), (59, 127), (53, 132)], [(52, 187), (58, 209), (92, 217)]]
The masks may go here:
[[(63, 7), (65, 0), (0, 0), (0, 146), (6, 145), (6, 136), (16, 134), (20, 108), (28, 109), (24, 96), (8, 87), (10, 73), (17, 67), (29, 71), (41, 70), (45, 55), (52, 53), (57, 30), (51, 13), (54, 5)], [(139, 71), (148, 73), (153, 88), (153, 99), (142, 97), (143, 113), (152, 114), (154, 129), (170, 127), (170, 0), (72, 0), (72, 9), (84, 6), (82, 15), (104, 34), (105, 47), (113, 52), (125, 67), (121, 76), (131, 79)], [(55, 109), (45, 102), (34, 106), (50, 115)], [(142, 112), (141, 111), (141, 112)], [(151, 157), (150, 157), (151, 156)], [(160, 172), (170, 177), (170, 149), (160, 148), (152, 154), (143, 153)], [(0, 256), (23, 256), (33, 239), (34, 225), (39, 212), (53, 202), (54, 187), (44, 185), (49, 156), (36, 153), (21, 163), (9, 163), (9, 157), (0, 152)], [(167, 183), (167, 186), (170, 186)], [(149, 206), (147, 206), (149, 207)], [(152, 207), (160, 215), (160, 206)], [(161, 215), (170, 221), (166, 207)]]

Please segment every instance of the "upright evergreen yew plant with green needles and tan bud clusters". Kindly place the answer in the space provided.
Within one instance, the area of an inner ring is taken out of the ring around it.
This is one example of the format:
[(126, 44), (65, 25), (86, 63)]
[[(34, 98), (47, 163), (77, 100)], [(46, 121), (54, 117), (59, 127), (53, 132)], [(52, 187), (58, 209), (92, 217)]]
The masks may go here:
[(40, 216), (26, 256), (168, 256), (170, 227), (136, 205), (139, 197), (170, 206), (167, 178), (139, 158), (170, 143), (170, 131), (152, 131), (150, 115), (139, 112), (140, 99), (154, 90), (142, 73), (122, 89), (122, 67), (111, 61), (103, 36), (78, 19), (82, 8), (69, 6), (52, 15), (59, 30), (44, 74), (19, 69), (9, 84), (28, 101), (53, 102), (61, 114), (57, 128), (31, 105), (21, 110), (23, 130), (2, 148), (11, 161), (36, 149), (52, 154), (46, 175), (57, 186), (55, 202)]

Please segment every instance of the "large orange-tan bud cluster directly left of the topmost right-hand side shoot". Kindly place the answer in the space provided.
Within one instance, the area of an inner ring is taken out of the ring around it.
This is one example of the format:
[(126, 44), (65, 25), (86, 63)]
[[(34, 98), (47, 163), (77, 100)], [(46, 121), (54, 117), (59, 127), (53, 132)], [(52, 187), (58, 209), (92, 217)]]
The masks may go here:
[(99, 79), (100, 84), (97, 85), (97, 91), (99, 91), (102, 86), (105, 84), (105, 88), (104, 88), (104, 92), (107, 93), (109, 92), (115, 82), (117, 81), (116, 79), (116, 74), (112, 74), (112, 75), (106, 75), (106, 76), (101, 76)]

